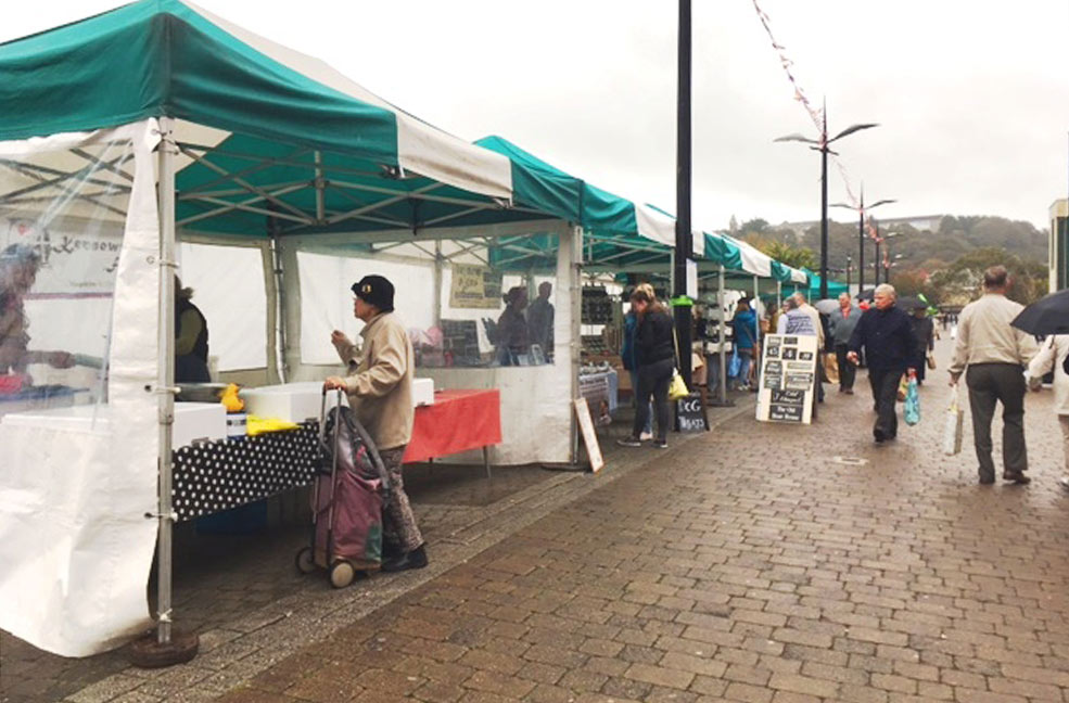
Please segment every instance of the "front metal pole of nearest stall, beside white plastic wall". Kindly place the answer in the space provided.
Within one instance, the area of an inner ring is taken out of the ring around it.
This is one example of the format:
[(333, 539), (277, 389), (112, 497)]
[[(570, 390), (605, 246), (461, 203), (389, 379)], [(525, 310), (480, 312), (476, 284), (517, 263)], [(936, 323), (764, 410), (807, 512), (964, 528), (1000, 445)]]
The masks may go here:
[(160, 360), (156, 393), (160, 413), (160, 522), (156, 641), (170, 642), (171, 623), (171, 506), (173, 466), (170, 431), (175, 422), (175, 144), (174, 119), (160, 119)]

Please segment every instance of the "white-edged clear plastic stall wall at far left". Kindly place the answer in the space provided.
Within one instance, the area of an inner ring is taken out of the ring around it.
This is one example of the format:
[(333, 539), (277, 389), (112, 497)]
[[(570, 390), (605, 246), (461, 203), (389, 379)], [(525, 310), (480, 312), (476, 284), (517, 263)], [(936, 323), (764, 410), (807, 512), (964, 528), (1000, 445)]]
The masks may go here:
[(0, 628), (66, 656), (149, 624), (156, 139), (0, 143)]

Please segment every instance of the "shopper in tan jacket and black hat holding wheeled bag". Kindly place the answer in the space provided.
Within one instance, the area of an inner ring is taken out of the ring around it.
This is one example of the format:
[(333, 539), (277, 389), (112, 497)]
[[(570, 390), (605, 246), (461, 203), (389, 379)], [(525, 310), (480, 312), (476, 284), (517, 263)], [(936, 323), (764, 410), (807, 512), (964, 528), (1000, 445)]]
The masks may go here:
[(330, 341), (349, 370), (345, 378), (330, 376), (323, 386), (341, 388), (349, 407), (374, 440), (390, 473), (390, 499), (383, 506), (382, 571), (397, 572), (427, 566), (423, 536), (416, 524), (402, 476), (405, 447), (412, 437), (415, 360), (408, 332), (394, 312), (394, 286), (381, 276), (365, 276), (353, 284), (353, 315), (362, 320), (364, 344), (357, 349), (344, 333), (334, 330)]

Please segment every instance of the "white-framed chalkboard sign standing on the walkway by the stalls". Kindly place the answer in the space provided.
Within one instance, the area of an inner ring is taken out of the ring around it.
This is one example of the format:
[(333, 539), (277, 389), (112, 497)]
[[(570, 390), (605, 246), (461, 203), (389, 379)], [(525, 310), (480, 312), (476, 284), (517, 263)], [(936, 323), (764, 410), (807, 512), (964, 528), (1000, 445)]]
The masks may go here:
[(758, 387), (758, 420), (810, 424), (816, 398), (817, 344), (812, 335), (768, 334)]

